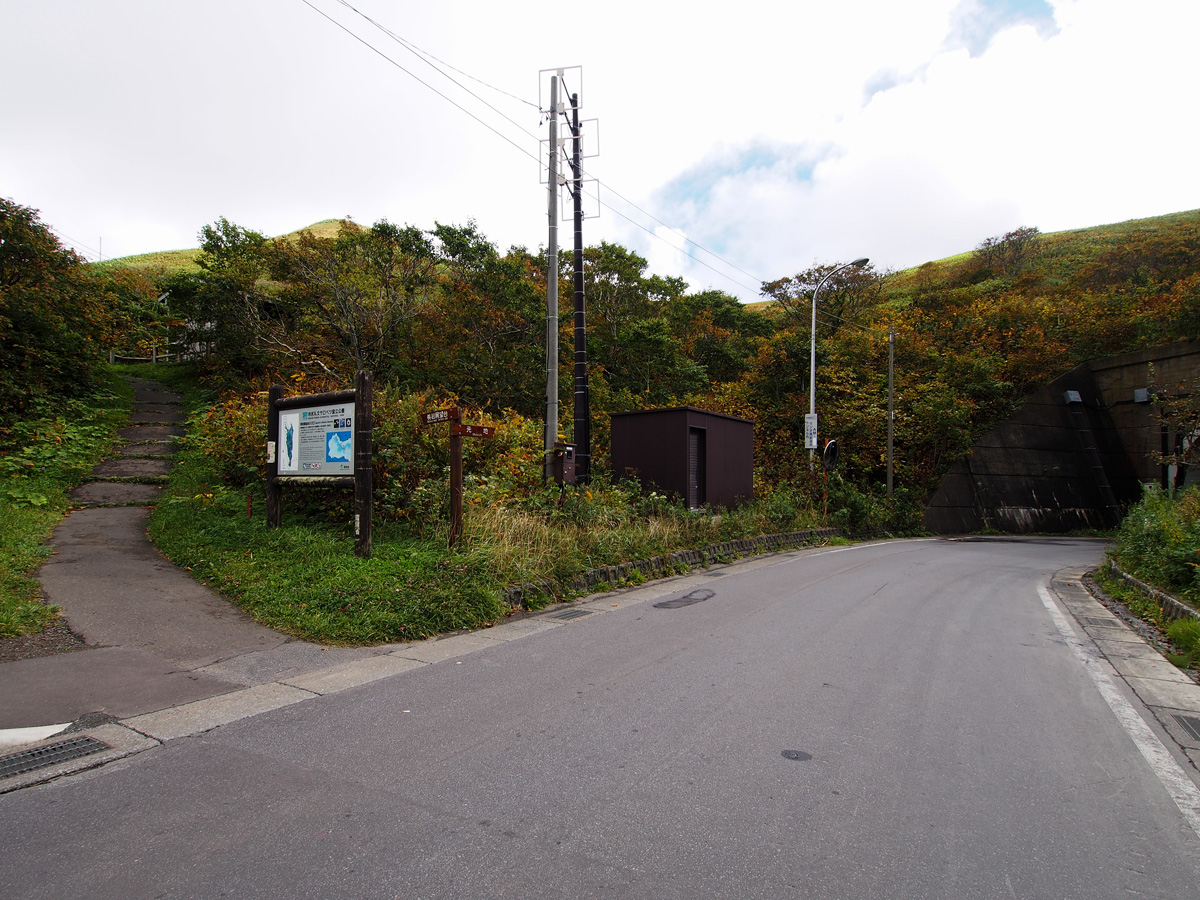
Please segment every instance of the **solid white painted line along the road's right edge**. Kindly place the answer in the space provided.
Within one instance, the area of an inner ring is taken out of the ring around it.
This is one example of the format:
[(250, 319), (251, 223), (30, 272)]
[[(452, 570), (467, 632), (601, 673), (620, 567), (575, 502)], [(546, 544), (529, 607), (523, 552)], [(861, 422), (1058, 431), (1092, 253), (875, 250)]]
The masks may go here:
[[(1042, 605), (1050, 613), (1055, 628), (1058, 629), (1058, 634), (1067, 641), (1075, 659), (1084, 664), (1084, 670), (1091, 677), (1100, 696), (1104, 697), (1104, 702), (1109, 704), (1109, 709), (1116, 715), (1126, 733), (1133, 738), (1133, 743), (1150, 763), (1150, 768), (1162, 781), (1171, 799), (1175, 800), (1175, 805), (1180, 808), (1180, 812), (1183, 814), (1183, 818), (1192, 827), (1192, 830), (1200, 836), (1200, 790), (1175, 761), (1158, 736), (1146, 725), (1146, 720), (1138, 714), (1133, 704), (1117, 690), (1112, 679), (1100, 668), (1098, 665), (1099, 650), (1094, 646), (1088, 648), (1090, 641), (1081, 641), (1072, 630), (1050, 588), (1046, 584), (1038, 584), (1038, 595), (1042, 598)], [(1093, 652), (1088, 653), (1088, 649)]]

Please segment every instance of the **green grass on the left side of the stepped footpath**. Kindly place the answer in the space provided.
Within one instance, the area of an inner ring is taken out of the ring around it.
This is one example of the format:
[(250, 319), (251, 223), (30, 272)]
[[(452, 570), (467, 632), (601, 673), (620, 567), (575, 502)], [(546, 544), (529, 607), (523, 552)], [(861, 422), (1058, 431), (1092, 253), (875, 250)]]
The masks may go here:
[(109, 373), (89, 401), (36, 410), (0, 431), (0, 636), (34, 634), (58, 611), (34, 577), (67, 493), (112, 450), (132, 391)]

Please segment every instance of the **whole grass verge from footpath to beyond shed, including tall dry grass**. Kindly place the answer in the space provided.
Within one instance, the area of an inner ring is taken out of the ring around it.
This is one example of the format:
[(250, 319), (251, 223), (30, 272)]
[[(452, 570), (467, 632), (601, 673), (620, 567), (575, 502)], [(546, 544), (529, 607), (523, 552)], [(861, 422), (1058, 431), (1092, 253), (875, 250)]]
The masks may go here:
[[(811, 511), (779, 499), (697, 516), (665, 498), (593, 485), (565, 497), (547, 490), (527, 508), (470, 503), (463, 540), (452, 552), (436, 512), (432, 524), (419, 529), (424, 536), (377, 521), (372, 557), (359, 559), (344, 497), (314, 502), (302, 488), (284, 488), (283, 524), (268, 528), (260, 482), (245, 488), (223, 482), (210, 449), (197, 431), (176, 456), (151, 516), (151, 540), (263, 624), (332, 644), (480, 628), (508, 612), (502, 598), (509, 584), (562, 582), (600, 565), (817, 524), (799, 521)], [(772, 518), (772, 510), (786, 515), (787, 524)]]

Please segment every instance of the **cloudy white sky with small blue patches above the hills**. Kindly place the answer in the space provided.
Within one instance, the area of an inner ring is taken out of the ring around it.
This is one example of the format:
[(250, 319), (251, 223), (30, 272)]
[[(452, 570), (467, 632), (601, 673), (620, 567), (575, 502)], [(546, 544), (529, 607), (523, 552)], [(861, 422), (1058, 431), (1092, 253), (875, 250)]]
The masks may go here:
[(0, 196), (89, 259), (222, 216), (536, 251), (559, 68), (584, 241), (743, 301), (1200, 208), (1196, 0), (0, 0)]

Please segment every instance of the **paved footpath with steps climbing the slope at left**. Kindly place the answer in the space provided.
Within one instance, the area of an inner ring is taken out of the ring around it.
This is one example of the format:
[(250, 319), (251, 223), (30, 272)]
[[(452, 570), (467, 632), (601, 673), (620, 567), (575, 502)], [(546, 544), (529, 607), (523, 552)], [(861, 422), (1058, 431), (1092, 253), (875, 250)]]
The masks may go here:
[(0, 664), (0, 754), (72, 725), (130, 719), (386, 652), (281, 635), (158, 553), (146, 518), (185, 415), (163, 385), (132, 382), (127, 443), (72, 493), (38, 572), (46, 598), (86, 649)]

